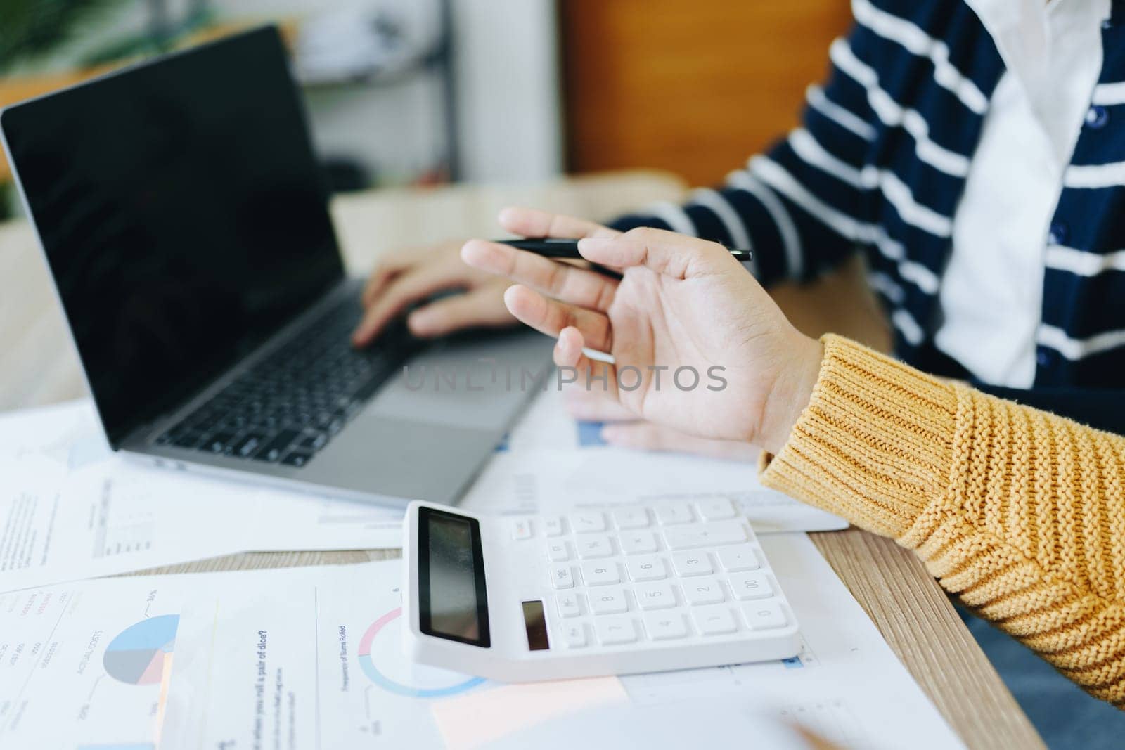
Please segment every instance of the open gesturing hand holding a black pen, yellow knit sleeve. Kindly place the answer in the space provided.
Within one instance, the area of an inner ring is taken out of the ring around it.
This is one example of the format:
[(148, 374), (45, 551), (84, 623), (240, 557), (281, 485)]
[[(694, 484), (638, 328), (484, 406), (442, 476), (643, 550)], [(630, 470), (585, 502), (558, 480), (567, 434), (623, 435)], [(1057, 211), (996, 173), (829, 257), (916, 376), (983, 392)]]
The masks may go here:
[[(582, 224), (540, 211), (506, 217), (539, 229), (521, 232), (526, 236), (574, 237), (565, 229)], [(699, 437), (781, 449), (811, 396), (820, 344), (790, 324), (726, 249), (646, 228), (587, 236), (579, 252), (624, 278), (485, 241), (467, 243), (461, 257), (520, 282), (504, 295), (508, 310), (557, 336), (556, 364), (577, 368), (629, 413)], [(586, 346), (613, 363), (592, 361)]]

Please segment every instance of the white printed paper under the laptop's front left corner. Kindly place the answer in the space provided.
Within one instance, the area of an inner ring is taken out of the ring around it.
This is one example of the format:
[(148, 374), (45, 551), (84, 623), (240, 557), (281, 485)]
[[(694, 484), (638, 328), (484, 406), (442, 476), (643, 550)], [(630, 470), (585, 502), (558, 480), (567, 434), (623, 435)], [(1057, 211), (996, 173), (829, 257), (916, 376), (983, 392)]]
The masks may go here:
[(0, 417), (0, 591), (244, 550), (395, 548), (402, 510), (112, 455), (89, 401)]

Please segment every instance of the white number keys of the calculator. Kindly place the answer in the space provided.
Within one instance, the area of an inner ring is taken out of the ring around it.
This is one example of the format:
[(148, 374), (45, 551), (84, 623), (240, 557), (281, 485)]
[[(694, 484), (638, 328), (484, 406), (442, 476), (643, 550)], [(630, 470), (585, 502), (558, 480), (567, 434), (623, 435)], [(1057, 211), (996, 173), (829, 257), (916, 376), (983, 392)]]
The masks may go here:
[[(784, 627), (765, 558), (726, 498), (537, 521), (568, 649)], [(522, 528), (516, 532), (523, 533)]]

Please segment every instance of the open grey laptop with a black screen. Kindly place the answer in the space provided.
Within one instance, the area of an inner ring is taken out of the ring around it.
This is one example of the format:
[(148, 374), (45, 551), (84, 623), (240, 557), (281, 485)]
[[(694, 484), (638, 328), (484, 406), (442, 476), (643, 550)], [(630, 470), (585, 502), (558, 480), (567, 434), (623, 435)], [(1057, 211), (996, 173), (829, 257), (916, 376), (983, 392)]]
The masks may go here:
[(450, 503), (549, 372), (526, 329), (424, 345), (399, 322), (352, 349), (362, 281), (273, 27), (10, 107), (0, 129), (115, 451)]

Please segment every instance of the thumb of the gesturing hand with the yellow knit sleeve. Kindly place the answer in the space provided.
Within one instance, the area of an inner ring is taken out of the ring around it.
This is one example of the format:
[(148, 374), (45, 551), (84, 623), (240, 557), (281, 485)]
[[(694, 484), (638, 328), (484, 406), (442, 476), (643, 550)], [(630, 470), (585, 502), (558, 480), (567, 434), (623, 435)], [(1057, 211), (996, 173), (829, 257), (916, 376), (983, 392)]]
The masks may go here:
[(664, 229), (640, 228), (616, 237), (587, 237), (578, 242), (578, 252), (592, 263), (622, 269), (645, 265), (674, 279), (738, 268), (738, 261), (722, 245)]

